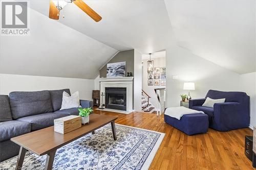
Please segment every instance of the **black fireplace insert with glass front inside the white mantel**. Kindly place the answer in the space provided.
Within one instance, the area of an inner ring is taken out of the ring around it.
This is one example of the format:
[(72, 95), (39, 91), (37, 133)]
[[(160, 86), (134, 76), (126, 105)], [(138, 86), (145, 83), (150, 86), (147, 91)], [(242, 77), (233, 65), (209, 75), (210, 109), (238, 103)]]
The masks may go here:
[(126, 87), (105, 87), (105, 108), (126, 110)]

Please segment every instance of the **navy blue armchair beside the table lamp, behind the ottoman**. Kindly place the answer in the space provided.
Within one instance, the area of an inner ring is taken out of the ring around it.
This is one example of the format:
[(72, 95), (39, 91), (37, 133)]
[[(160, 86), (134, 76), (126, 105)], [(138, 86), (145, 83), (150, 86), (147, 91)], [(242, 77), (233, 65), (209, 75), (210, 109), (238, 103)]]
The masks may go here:
[[(206, 98), (223, 99), (214, 108), (202, 106)], [(189, 108), (203, 111), (209, 117), (209, 127), (218, 131), (246, 128), (250, 124), (250, 97), (245, 92), (209, 90), (205, 99), (189, 100)]]

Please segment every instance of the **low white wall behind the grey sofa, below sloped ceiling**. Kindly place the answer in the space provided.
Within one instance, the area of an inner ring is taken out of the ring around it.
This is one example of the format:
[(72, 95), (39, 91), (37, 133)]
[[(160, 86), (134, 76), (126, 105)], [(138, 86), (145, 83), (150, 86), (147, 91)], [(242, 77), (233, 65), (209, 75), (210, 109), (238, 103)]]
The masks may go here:
[(79, 91), (80, 99), (92, 100), (94, 80), (0, 74), (0, 94), (63, 88), (69, 88), (71, 93)]

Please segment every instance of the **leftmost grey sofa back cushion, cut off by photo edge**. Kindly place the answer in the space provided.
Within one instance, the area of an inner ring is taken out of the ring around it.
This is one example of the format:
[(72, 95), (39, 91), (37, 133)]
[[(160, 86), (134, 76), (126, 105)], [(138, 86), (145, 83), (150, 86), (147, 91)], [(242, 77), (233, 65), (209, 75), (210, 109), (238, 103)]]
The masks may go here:
[(12, 120), (12, 112), (8, 95), (0, 95), (0, 122)]

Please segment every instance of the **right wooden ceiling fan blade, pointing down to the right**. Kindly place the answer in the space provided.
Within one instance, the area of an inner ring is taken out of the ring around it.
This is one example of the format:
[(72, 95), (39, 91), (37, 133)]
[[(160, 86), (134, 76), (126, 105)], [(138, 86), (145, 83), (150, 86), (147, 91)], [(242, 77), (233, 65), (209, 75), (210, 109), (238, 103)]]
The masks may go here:
[(83, 12), (87, 13), (93, 20), (96, 22), (100, 21), (102, 18), (97, 14), (92, 8), (90, 8), (86, 3), (82, 0), (75, 0), (74, 4), (79, 7)]

